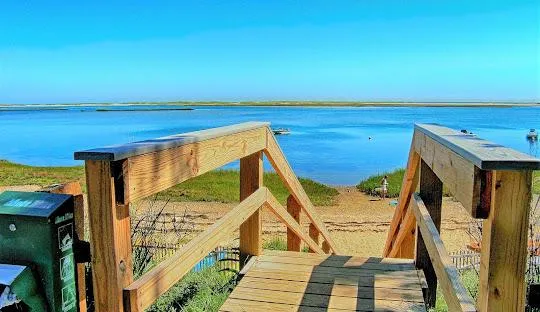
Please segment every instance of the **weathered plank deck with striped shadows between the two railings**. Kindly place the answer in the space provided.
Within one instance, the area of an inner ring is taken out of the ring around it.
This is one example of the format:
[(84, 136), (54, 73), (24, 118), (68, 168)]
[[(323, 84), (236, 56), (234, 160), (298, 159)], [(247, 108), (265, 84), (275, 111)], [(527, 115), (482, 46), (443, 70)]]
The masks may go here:
[(426, 311), (412, 259), (265, 250), (220, 311)]

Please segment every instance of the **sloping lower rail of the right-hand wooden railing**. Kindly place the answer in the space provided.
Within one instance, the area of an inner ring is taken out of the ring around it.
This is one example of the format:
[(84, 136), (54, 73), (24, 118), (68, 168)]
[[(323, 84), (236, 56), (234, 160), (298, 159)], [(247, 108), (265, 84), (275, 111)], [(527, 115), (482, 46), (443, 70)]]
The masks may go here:
[(461, 283), (459, 273), (446, 252), (439, 231), (419, 195), (414, 195), (411, 208), (449, 310), (476, 311), (474, 300)]

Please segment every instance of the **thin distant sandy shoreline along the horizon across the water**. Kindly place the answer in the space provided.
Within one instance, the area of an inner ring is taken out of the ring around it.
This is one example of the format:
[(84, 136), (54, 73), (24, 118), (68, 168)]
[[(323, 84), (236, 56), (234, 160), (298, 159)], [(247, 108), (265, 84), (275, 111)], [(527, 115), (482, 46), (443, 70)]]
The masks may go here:
[[(52, 109), (65, 107), (133, 107), (133, 106), (266, 106), (266, 107), (540, 107), (540, 103), (513, 102), (323, 102), (323, 101), (272, 101), (272, 102), (126, 102), (126, 103), (73, 103), (73, 104), (0, 104), (0, 108)], [(187, 109), (187, 108), (186, 108)]]

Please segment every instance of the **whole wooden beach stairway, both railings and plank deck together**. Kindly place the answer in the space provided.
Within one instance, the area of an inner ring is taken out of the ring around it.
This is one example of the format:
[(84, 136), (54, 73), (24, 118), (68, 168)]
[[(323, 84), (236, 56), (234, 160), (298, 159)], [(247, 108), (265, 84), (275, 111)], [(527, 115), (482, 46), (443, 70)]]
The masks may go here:
[[(263, 155), (290, 192), (286, 207), (264, 187)], [(144, 311), (238, 228), (247, 265), (222, 311), (426, 311), (437, 281), (450, 311), (475, 311), (440, 239), (443, 182), (473, 217), (486, 219), (478, 309), (523, 310), (531, 170), (540, 169), (540, 161), (476, 137), (416, 126), (385, 258), (340, 255), (268, 123), (82, 151), (75, 158), (86, 161), (98, 312)], [(130, 203), (237, 159), (240, 204), (135, 280)], [(289, 251), (263, 252), (261, 209), (287, 226)], [(307, 233), (301, 213), (310, 222)], [(300, 252), (301, 242), (309, 253)]]

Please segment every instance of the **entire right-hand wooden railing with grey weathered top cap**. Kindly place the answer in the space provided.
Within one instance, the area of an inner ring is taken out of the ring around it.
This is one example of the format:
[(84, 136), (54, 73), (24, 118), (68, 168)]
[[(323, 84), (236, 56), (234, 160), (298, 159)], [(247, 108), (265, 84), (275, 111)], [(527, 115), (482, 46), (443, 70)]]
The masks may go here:
[[(540, 160), (501, 145), (416, 125), (384, 256), (415, 259), (427, 281), (428, 307), (439, 282), (450, 311), (524, 311), (532, 170), (538, 169)], [(440, 238), (443, 184), (473, 218), (484, 219), (476, 306)]]

